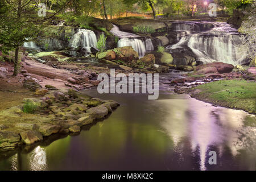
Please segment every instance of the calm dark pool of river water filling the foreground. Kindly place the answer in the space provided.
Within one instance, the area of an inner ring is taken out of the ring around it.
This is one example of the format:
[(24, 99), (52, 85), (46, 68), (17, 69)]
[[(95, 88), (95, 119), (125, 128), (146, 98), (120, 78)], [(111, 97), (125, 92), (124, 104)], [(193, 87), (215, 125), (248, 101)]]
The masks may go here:
[[(0, 155), (0, 170), (255, 170), (255, 115), (177, 95), (160, 75), (158, 100), (146, 94), (84, 93), (121, 104), (79, 135)], [(209, 152), (217, 164), (210, 165)]]

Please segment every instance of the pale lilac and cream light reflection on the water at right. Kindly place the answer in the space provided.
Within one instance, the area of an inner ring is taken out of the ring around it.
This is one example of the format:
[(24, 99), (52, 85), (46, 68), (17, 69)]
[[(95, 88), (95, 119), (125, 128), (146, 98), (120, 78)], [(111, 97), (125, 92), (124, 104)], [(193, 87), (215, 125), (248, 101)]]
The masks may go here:
[[(208, 154), (213, 146), (216, 148), (218, 158), (222, 157), (226, 147), (234, 158), (241, 150), (248, 150), (246, 136), (250, 134), (250, 138), (255, 140), (255, 128), (244, 127), (243, 123), (250, 114), (179, 97), (180, 99), (172, 102), (159, 101), (163, 108), (171, 110), (162, 122), (162, 126), (174, 140), (175, 146), (181, 146), (183, 139), (189, 138), (191, 151), (200, 156), (201, 170), (207, 169)], [(255, 119), (254, 115), (250, 117)], [(254, 144), (250, 143), (249, 146), (255, 149)], [(255, 161), (255, 154), (253, 160)]]

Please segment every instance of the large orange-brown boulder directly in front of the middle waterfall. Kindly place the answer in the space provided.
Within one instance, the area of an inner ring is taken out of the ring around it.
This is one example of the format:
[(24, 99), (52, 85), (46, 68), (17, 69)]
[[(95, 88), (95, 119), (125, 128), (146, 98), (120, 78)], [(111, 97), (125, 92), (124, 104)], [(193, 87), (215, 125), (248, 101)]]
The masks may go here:
[(113, 51), (117, 55), (117, 60), (130, 62), (132, 60), (139, 59), (138, 52), (134, 51), (133, 47), (131, 46), (114, 48)]

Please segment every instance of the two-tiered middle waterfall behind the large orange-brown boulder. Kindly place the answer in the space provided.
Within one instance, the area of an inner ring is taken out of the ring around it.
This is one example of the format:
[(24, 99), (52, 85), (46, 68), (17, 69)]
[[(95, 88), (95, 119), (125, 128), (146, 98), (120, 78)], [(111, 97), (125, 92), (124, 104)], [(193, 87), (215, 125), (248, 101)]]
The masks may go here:
[(138, 52), (139, 57), (143, 57), (146, 52), (154, 51), (151, 39), (146, 39), (145, 42), (143, 42), (142, 39), (136, 39), (140, 38), (139, 35), (120, 31), (118, 26), (115, 26), (114, 24), (110, 32), (121, 38), (117, 43), (118, 47), (131, 46), (136, 52)]

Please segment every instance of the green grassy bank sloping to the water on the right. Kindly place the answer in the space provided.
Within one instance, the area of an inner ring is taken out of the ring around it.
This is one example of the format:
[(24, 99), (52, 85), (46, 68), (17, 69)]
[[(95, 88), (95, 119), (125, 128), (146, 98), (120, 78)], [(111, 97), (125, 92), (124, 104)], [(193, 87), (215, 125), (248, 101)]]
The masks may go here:
[(256, 113), (256, 84), (246, 80), (219, 80), (199, 85), (200, 93), (192, 94), (199, 100), (212, 104)]

